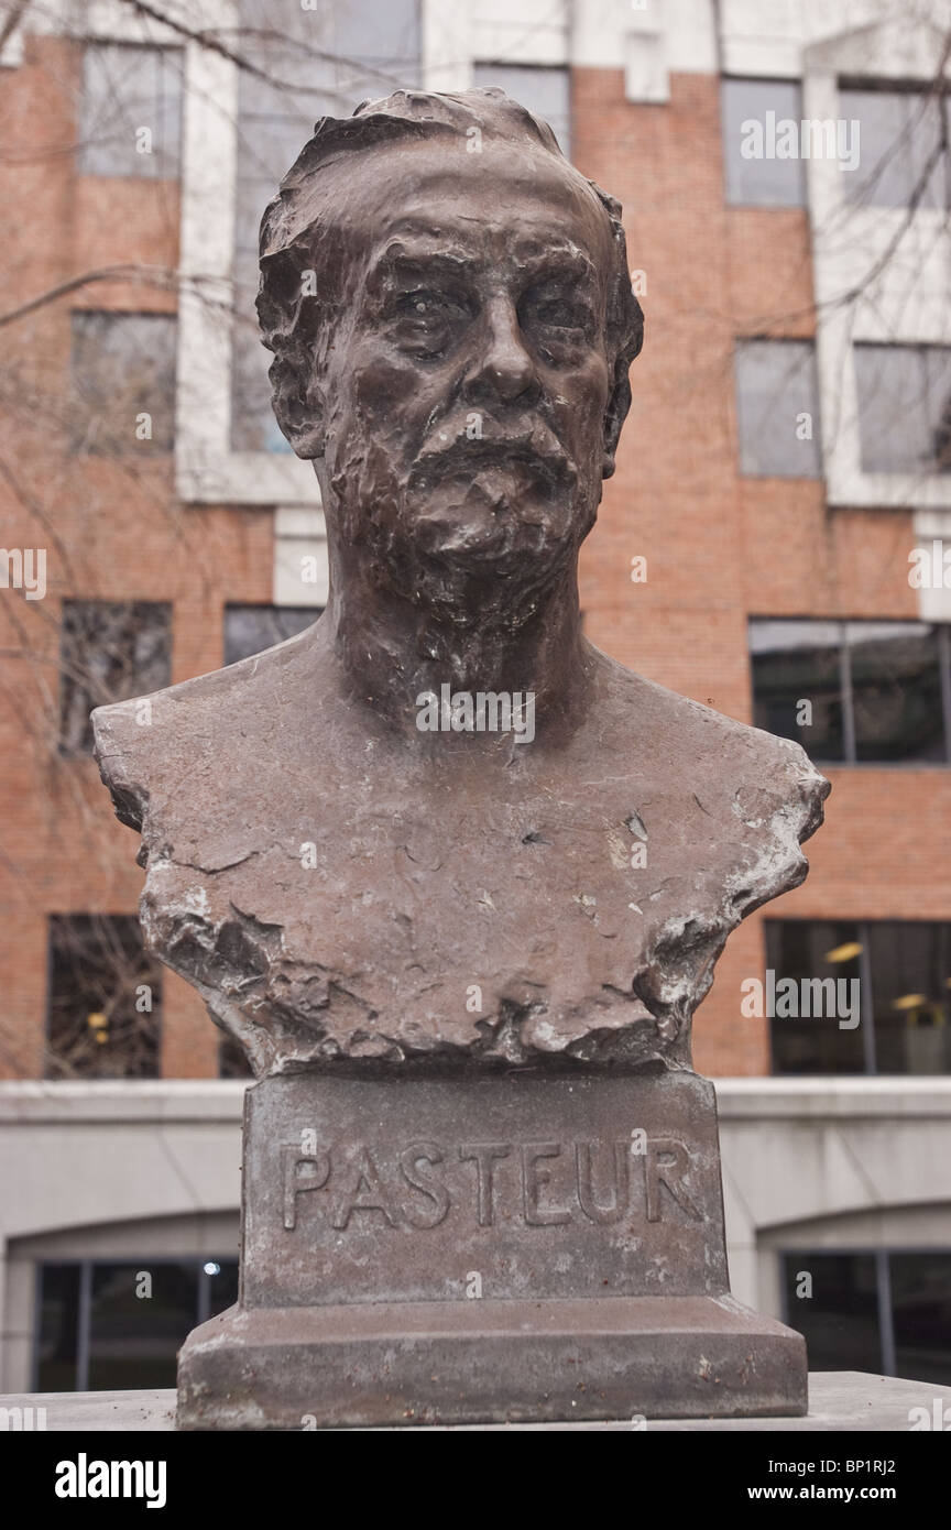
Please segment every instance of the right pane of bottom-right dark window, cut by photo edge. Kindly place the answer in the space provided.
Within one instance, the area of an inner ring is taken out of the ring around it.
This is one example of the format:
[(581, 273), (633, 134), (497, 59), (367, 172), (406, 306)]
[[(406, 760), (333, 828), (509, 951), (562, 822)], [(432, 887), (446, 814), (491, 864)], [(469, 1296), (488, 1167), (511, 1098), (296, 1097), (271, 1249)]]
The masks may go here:
[(894, 1374), (951, 1385), (951, 1253), (891, 1253)]

